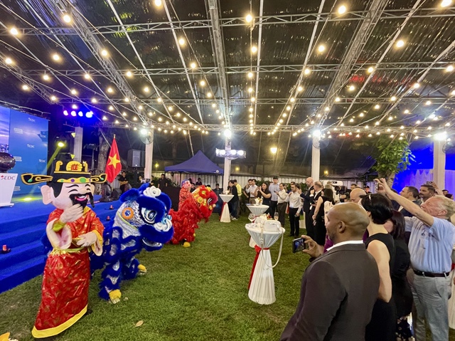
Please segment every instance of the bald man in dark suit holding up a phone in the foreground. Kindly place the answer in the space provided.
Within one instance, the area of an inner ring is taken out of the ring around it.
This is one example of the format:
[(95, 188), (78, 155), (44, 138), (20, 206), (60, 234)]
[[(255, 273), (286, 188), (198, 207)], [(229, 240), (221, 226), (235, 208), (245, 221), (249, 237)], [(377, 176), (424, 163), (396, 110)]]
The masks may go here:
[(379, 273), (362, 237), (368, 215), (358, 204), (337, 204), (328, 211), (327, 232), (335, 244), (319, 256), (308, 236), (303, 252), (319, 256), (306, 269), (300, 301), (281, 341), (364, 341), (378, 298)]

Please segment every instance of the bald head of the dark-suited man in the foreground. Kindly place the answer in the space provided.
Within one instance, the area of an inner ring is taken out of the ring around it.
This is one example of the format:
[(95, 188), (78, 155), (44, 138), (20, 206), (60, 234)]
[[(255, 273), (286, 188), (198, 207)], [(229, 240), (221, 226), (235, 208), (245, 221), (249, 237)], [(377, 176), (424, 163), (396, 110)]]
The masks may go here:
[(363, 207), (351, 202), (336, 204), (328, 211), (326, 229), (333, 243), (361, 240), (370, 224)]

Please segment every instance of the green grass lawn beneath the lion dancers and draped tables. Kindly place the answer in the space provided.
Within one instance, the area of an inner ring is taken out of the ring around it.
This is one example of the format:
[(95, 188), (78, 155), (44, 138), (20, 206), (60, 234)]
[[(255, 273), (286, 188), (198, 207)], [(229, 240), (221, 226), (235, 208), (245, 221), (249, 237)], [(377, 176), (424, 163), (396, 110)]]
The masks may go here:
[[(190, 248), (166, 245), (138, 257), (148, 273), (122, 284), (122, 301), (97, 296), (100, 272), (90, 286), (93, 310), (56, 340), (279, 340), (299, 300), (308, 256), (291, 252), (285, 234), (282, 258), (274, 268), (272, 305), (248, 298), (255, 251), (248, 246), (247, 219), (223, 224), (215, 214), (200, 224)], [(279, 241), (272, 246), (277, 260)], [(33, 340), (31, 329), (41, 299), (41, 276), (0, 295), (0, 335)], [(142, 320), (141, 327), (135, 327)], [(452, 334), (450, 340), (455, 340)]]

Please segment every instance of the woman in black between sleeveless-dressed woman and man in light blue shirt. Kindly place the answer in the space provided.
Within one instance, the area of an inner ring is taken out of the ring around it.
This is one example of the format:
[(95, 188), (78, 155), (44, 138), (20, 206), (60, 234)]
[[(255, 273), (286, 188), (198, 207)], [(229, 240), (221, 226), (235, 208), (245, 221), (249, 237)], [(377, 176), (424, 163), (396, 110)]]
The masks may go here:
[(397, 309), (397, 340), (411, 340), (412, 332), (407, 315), (412, 310), (412, 292), (406, 272), (410, 268), (410, 251), (405, 241), (405, 217), (399, 211), (393, 211), (392, 219), (386, 221), (385, 229), (395, 242), (395, 263), (392, 268), (392, 295)]

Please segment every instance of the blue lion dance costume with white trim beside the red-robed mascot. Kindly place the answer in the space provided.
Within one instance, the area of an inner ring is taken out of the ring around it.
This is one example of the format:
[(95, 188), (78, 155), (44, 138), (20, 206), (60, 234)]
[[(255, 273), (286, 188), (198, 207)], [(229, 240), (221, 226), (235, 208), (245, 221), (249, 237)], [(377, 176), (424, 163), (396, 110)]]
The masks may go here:
[(115, 214), (114, 221), (106, 226), (105, 244), (101, 257), (92, 258), (92, 270), (102, 271), (100, 297), (118, 303), (122, 293), (122, 280), (135, 278), (137, 273), (146, 273), (135, 256), (141, 252), (156, 251), (173, 236), (171, 199), (167, 194), (149, 184), (139, 189), (129, 189), (120, 196), (123, 202)]

